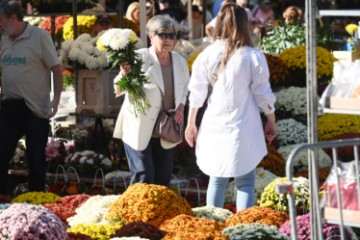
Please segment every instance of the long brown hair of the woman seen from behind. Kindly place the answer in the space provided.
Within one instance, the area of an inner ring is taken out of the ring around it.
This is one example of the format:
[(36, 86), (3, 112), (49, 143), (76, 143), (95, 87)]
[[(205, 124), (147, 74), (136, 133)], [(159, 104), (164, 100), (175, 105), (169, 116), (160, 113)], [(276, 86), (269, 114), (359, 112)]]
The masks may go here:
[(246, 11), (235, 3), (224, 4), (217, 16), (215, 39), (226, 39), (226, 48), (221, 68), (229, 61), (233, 52), (244, 46), (253, 46), (249, 33)]

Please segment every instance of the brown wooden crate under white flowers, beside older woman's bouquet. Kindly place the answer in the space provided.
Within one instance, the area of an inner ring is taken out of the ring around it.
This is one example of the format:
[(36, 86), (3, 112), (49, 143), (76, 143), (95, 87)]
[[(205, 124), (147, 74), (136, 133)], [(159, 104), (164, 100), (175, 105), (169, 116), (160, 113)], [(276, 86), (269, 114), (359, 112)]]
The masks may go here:
[(117, 113), (123, 98), (116, 98), (113, 80), (118, 71), (79, 70), (76, 112)]

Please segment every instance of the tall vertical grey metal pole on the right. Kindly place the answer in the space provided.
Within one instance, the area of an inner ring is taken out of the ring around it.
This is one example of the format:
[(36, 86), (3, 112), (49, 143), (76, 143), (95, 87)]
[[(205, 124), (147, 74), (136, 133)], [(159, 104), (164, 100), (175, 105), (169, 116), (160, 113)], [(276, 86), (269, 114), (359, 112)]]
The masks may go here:
[[(317, 77), (316, 77), (316, 2), (306, 0), (306, 84), (307, 84), (307, 125), (308, 143), (313, 144), (317, 137)], [(322, 223), (319, 204), (319, 164), (317, 151), (308, 151), (309, 181), (311, 197), (311, 239), (322, 240)]]

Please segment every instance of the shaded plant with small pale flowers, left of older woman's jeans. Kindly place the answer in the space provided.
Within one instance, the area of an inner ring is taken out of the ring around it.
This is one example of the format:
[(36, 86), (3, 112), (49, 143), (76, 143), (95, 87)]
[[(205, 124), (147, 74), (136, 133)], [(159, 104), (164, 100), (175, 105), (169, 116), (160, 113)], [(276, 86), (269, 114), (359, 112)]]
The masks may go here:
[(96, 170), (101, 168), (104, 172), (113, 170), (112, 161), (103, 154), (91, 150), (75, 152), (67, 156), (64, 161), (66, 167), (74, 167), (80, 176), (93, 177)]

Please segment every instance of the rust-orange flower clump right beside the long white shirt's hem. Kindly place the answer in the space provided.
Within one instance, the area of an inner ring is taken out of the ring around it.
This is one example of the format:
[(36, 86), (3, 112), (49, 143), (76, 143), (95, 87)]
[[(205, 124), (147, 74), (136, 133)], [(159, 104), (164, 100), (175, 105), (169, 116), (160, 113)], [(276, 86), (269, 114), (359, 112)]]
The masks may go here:
[(276, 176), (285, 176), (285, 159), (274, 146), (267, 145), (268, 154), (261, 160), (258, 168), (269, 170)]

